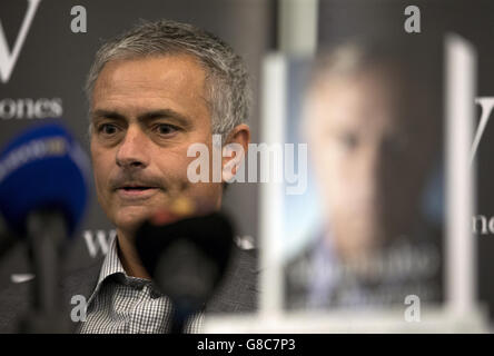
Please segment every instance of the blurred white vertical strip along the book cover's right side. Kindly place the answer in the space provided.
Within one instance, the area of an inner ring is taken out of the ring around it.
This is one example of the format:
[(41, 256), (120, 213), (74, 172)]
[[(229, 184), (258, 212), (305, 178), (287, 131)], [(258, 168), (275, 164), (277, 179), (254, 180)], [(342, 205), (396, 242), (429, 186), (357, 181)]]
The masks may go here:
[(448, 34), (446, 55), (446, 301), (466, 314), (475, 303), (474, 170), (470, 166), (476, 88), (476, 55), (460, 36)]

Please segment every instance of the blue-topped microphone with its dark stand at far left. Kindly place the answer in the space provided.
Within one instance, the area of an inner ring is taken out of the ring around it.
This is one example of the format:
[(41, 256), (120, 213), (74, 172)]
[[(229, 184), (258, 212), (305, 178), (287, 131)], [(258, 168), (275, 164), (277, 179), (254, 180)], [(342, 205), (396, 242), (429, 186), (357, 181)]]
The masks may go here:
[[(87, 205), (89, 159), (69, 131), (49, 122), (29, 128), (0, 154), (0, 210), (24, 238), (36, 278), (22, 333), (69, 330), (58, 284), (63, 247)], [(11, 244), (11, 237), (6, 239)]]

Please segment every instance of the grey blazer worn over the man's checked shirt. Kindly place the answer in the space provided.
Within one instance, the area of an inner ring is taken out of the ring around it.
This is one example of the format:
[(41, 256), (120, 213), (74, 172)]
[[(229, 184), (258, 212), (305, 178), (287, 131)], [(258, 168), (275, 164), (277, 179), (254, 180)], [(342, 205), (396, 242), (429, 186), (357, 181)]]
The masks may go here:
[[(76, 305), (70, 300), (75, 295), (87, 299), (92, 294), (99, 277), (103, 257), (80, 269), (65, 274), (59, 284), (62, 295), (60, 310), (70, 320), (70, 310)], [(255, 250), (235, 249), (230, 266), (220, 286), (206, 306), (206, 317), (216, 313), (249, 313), (257, 307), (257, 254)], [(0, 290), (0, 333), (19, 333), (19, 322), (30, 309), (30, 288), (32, 280), (11, 284)], [(69, 323), (71, 332), (77, 332), (78, 323)]]

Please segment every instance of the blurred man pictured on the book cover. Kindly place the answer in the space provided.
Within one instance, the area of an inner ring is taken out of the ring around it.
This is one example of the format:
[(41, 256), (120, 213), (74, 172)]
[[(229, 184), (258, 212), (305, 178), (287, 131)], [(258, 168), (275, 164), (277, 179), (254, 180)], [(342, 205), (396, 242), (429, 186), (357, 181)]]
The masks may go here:
[(287, 266), (288, 307), (441, 299), (442, 218), (433, 210), (443, 201), (428, 189), (441, 170), (441, 80), (437, 58), (424, 62), (414, 49), (348, 42), (314, 67), (303, 125), (323, 219)]

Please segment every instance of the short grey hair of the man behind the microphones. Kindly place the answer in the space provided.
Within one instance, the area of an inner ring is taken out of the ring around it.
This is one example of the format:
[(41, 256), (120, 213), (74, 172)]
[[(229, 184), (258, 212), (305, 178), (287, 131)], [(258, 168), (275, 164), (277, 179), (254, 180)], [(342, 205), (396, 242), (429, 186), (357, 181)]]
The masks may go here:
[(172, 20), (141, 20), (129, 31), (105, 42), (96, 53), (86, 81), (86, 96), (92, 90), (106, 63), (118, 59), (185, 53), (198, 59), (206, 70), (206, 90), (213, 134), (225, 139), (249, 116), (251, 93), (243, 59), (215, 34)]

